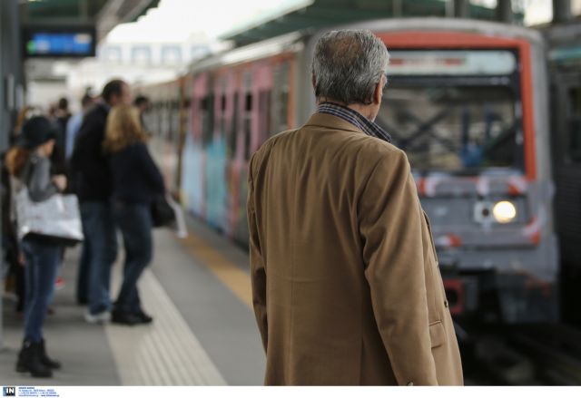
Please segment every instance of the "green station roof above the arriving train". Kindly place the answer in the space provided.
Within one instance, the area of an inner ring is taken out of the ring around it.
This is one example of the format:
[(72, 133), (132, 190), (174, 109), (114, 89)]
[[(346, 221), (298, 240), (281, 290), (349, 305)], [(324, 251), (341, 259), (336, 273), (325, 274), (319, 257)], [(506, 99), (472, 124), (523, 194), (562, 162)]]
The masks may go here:
[[(447, 2), (442, 0), (287, 0), (271, 15), (250, 21), (222, 39), (235, 45), (245, 45), (305, 29), (348, 24), (369, 19), (446, 16)], [(496, 20), (496, 10), (481, 5), (469, 5), (470, 18)], [(522, 20), (523, 15), (515, 15)]]

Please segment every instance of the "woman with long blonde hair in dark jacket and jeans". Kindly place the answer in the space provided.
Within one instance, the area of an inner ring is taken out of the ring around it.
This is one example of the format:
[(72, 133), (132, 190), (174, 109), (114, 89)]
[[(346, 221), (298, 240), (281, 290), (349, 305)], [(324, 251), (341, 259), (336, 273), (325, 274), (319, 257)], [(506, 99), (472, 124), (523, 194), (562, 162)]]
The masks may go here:
[(109, 113), (103, 150), (109, 155), (113, 176), (113, 215), (123, 235), (123, 284), (115, 302), (112, 322), (147, 324), (153, 317), (143, 311), (137, 282), (153, 259), (151, 205), (164, 195), (162, 173), (146, 145), (139, 112), (118, 105)]

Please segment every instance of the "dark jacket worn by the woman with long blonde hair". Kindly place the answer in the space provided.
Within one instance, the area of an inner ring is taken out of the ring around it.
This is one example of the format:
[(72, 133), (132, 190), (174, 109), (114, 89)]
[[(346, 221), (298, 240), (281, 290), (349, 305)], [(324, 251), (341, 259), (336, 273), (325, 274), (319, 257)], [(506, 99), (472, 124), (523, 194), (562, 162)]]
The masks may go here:
[(165, 187), (160, 170), (143, 142), (114, 152), (109, 160), (113, 174), (113, 199), (149, 205)]

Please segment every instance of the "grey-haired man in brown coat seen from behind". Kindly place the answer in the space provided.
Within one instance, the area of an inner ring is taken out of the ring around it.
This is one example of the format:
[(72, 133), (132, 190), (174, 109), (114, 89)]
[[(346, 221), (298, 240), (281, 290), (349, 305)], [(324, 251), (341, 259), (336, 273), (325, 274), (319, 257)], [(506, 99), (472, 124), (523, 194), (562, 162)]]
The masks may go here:
[(248, 221), (267, 384), (458, 385), (462, 367), (406, 154), (374, 122), (389, 53), (320, 37), (318, 110), (251, 159)]

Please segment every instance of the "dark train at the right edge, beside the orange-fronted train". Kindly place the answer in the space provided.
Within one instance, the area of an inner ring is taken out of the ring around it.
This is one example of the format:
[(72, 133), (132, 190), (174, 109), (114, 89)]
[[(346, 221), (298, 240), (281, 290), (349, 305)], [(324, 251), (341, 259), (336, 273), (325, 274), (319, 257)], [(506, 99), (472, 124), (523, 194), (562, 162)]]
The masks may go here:
[(548, 46), (561, 315), (581, 326), (581, 24), (577, 19), (541, 32)]

